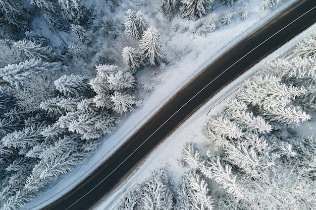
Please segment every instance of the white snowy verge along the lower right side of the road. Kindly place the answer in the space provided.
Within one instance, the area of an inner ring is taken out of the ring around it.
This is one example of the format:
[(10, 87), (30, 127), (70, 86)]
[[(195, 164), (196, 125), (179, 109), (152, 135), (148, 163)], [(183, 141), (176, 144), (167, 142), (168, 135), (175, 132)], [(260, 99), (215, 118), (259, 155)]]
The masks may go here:
[[(192, 142), (203, 151), (203, 145), (205, 136), (201, 133), (201, 127), (212, 115), (216, 115), (223, 110), (225, 102), (235, 95), (236, 90), (240, 87), (247, 78), (256, 73), (262, 64), (267, 61), (274, 60), (276, 58), (290, 57), (294, 46), (316, 30), (316, 24), (305, 30), (299, 36), (293, 38), (291, 41), (280, 47), (278, 50), (262, 59), (254, 67), (249, 69), (245, 74), (241, 75), (237, 80), (229, 84), (222, 91), (216, 94), (206, 104), (204, 104), (199, 110), (197, 110), (189, 119), (187, 119), (180, 127), (176, 129), (159, 147), (157, 147), (147, 158), (138, 166), (134, 173), (131, 174), (124, 183), (121, 183), (117, 189), (110, 195), (103, 197), (102, 200), (97, 203), (93, 209), (114, 209), (114, 207), (120, 202), (120, 199), (124, 197), (124, 194), (130, 189), (136, 187), (138, 183), (141, 183), (151, 175), (154, 169), (162, 168), (169, 172), (173, 180), (176, 182), (180, 180), (183, 175), (183, 167), (177, 164), (177, 160), (181, 158), (183, 145), (185, 142)], [(304, 123), (303, 123), (304, 124)], [(305, 123), (306, 124), (306, 123)], [(302, 125), (306, 130), (308, 125)], [(314, 134), (314, 129), (309, 130), (309, 134)], [(177, 185), (178, 183), (175, 183)]]

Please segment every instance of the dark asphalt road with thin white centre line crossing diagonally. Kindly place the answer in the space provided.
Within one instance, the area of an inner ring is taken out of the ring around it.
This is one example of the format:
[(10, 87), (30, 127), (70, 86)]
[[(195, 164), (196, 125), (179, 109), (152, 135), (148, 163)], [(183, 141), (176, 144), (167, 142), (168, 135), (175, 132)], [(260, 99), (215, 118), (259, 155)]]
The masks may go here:
[(89, 209), (209, 98), (259, 60), (315, 23), (315, 7), (315, 0), (301, 0), (287, 12), (249, 34), (203, 69), (94, 173), (43, 209)]

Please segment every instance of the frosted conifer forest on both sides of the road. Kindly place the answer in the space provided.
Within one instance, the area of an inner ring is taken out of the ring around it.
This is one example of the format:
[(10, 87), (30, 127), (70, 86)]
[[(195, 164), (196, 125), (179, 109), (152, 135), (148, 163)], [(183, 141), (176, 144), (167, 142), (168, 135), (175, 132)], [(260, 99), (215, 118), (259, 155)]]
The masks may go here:
[[(152, 1), (165, 23), (182, 21), (172, 33), (189, 37), (248, 18), (233, 10), (243, 0)], [(256, 2), (264, 13), (284, 1)], [(1, 210), (20, 209), (91, 156), (189, 53), (166, 44), (144, 4), (0, 0)], [(315, 209), (316, 142), (295, 128), (316, 116), (316, 34), (293, 53), (266, 63), (205, 122), (206, 153), (194, 139), (182, 146), (179, 185), (156, 169), (117, 209)]]

